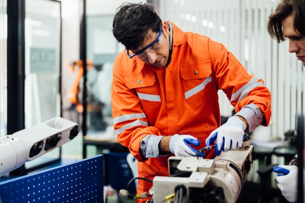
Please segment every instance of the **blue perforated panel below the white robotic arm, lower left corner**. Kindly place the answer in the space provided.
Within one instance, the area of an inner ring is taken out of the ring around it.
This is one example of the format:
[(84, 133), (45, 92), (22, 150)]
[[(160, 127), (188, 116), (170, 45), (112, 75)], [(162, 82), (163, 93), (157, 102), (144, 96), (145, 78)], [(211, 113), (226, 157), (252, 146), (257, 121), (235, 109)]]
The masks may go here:
[(0, 203), (103, 203), (103, 156), (0, 183)]

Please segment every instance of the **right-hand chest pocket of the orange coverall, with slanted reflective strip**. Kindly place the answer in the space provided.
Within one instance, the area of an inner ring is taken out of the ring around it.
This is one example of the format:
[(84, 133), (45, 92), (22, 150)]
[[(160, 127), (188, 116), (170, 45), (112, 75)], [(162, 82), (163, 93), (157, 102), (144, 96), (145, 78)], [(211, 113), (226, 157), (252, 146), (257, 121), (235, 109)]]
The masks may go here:
[(212, 81), (210, 61), (182, 64), (180, 74), (185, 99), (191, 104), (204, 103), (210, 95), (210, 89), (207, 89)]

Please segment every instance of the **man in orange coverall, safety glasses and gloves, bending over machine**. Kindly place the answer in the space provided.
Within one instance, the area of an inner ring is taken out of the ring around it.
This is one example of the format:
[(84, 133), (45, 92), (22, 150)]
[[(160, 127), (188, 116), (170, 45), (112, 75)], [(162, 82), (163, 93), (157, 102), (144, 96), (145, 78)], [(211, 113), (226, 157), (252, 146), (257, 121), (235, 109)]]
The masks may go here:
[[(242, 147), (245, 132), (268, 125), (269, 90), (223, 44), (162, 21), (149, 3), (122, 4), (113, 34), (126, 48), (113, 67), (114, 130), (138, 160), (139, 177), (168, 176), (170, 156), (195, 156), (215, 141), (205, 154), (213, 159)], [(237, 112), (222, 126), (219, 89)], [(137, 193), (151, 187), (139, 180)]]

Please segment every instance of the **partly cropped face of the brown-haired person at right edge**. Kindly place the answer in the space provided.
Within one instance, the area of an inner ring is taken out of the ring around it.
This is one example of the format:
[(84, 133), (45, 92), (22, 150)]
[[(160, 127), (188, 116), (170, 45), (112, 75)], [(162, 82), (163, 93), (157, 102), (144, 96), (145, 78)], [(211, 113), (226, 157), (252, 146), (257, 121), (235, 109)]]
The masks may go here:
[(290, 15), (282, 21), (283, 34), (289, 39), (290, 53), (295, 53), (297, 58), (303, 62), (305, 66), (305, 36), (295, 31), (293, 26), (293, 16)]

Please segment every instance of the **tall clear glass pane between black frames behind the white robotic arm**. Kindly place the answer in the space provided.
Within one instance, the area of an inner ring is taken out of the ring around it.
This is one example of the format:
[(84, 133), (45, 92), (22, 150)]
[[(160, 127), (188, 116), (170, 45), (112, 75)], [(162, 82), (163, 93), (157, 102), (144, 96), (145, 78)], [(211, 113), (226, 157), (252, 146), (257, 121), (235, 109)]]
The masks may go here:
[[(61, 4), (25, 1), (25, 128), (60, 116)], [(56, 148), (25, 167), (60, 158)]]

